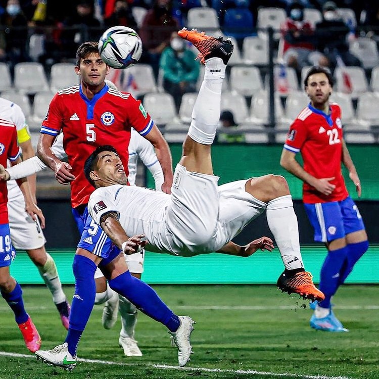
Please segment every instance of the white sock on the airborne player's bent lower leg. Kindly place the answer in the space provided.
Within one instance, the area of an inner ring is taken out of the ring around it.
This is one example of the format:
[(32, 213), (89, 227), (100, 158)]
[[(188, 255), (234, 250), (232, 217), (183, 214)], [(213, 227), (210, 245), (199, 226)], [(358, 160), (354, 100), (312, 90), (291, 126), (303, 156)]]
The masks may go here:
[(288, 270), (303, 268), (298, 219), (294, 211), (291, 195), (280, 196), (269, 201), (266, 208), (266, 217), (285, 267)]

